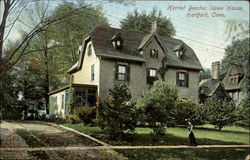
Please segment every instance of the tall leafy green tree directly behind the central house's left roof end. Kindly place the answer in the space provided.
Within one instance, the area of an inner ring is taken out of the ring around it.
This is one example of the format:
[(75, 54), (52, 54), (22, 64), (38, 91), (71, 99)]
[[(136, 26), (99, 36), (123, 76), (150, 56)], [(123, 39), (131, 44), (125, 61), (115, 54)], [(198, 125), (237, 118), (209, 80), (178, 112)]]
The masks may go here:
[[(53, 11), (49, 19), (54, 19), (65, 12), (72, 12), (82, 7), (73, 3), (63, 3)], [(63, 44), (62, 47), (56, 48), (53, 51), (60, 54), (60, 59), (64, 62), (64, 72), (76, 63), (79, 57), (77, 53), (78, 47), (82, 45), (82, 40), (90, 33), (97, 25), (109, 25), (108, 20), (104, 17), (101, 8), (87, 7), (84, 12), (79, 10), (77, 14), (67, 16), (55, 25), (49, 28), (49, 37), (54, 42)], [(59, 59), (59, 60), (60, 60)], [(64, 76), (66, 76), (64, 74)]]

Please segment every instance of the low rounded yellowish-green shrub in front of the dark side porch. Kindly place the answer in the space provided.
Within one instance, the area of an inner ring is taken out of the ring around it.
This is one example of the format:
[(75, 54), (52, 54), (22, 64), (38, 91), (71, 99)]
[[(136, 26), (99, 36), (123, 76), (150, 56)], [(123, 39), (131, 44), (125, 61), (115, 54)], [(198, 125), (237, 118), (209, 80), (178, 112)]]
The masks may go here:
[(85, 124), (90, 124), (96, 118), (96, 107), (78, 107), (74, 110), (74, 115)]

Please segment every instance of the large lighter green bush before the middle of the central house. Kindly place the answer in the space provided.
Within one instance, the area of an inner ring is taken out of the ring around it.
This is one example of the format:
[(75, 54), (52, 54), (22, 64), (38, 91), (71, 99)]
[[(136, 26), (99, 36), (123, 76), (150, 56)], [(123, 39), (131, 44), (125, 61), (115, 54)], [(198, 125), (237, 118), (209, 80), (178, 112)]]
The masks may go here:
[(153, 128), (154, 135), (165, 134), (165, 126), (173, 124), (175, 101), (178, 98), (177, 89), (165, 81), (158, 80), (137, 101), (137, 107), (142, 110), (143, 121)]

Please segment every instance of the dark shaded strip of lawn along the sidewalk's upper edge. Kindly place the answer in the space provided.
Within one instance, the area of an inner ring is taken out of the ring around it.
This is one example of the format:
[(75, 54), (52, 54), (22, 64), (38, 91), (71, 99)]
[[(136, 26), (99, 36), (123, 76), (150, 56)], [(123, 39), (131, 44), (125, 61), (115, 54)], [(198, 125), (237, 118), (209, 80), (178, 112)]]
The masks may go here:
[[(160, 136), (157, 140), (150, 134), (129, 134), (121, 141), (111, 141), (105, 134), (95, 134), (94, 137), (111, 145), (151, 146), (151, 145), (187, 145), (188, 138), (177, 137), (172, 134)], [(198, 145), (239, 145), (242, 143), (197, 138)]]

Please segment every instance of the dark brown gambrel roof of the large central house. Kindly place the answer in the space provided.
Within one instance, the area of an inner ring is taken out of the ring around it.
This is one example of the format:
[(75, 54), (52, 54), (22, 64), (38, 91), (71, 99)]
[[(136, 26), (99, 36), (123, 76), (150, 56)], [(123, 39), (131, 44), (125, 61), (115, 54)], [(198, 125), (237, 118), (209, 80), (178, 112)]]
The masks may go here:
[[(114, 36), (121, 34), (124, 42), (121, 50), (116, 50), (111, 40)], [(150, 34), (127, 31), (123, 29), (112, 28), (109, 26), (100, 25), (97, 26), (90, 34), (89, 38), (84, 40), (83, 51), (79, 58), (78, 64), (74, 65), (68, 73), (74, 73), (82, 66), (86, 44), (91, 41), (96, 53), (96, 56), (110, 59), (122, 59), (127, 61), (134, 61), (143, 63), (145, 62), (143, 56), (139, 53), (139, 50), (144, 47), (148, 40), (155, 37), (157, 42), (163, 48), (167, 56), (167, 65), (170, 67), (186, 68), (194, 70), (202, 70), (202, 66), (195, 55), (194, 51), (187, 46), (183, 41), (170, 38), (166, 36), (160, 36), (156, 32)], [(185, 44), (186, 52), (185, 57), (180, 60), (177, 58), (173, 49), (177, 45)], [(159, 61), (159, 63), (161, 63)]]

